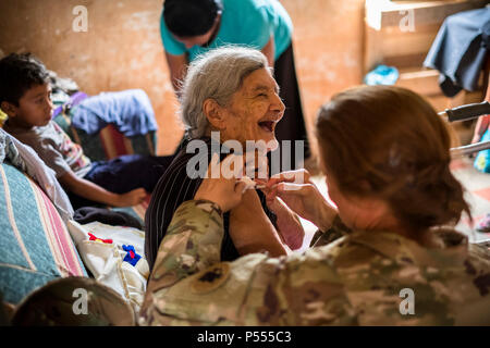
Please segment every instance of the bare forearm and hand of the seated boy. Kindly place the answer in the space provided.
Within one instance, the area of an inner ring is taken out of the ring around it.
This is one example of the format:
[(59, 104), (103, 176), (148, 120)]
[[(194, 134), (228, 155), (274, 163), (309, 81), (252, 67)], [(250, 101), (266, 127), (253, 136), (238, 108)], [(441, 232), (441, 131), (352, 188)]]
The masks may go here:
[(97, 184), (77, 177), (72, 171), (65, 172), (58, 179), (64, 188), (75, 195), (113, 207), (135, 206), (146, 197), (144, 188), (136, 188), (122, 195), (110, 192)]

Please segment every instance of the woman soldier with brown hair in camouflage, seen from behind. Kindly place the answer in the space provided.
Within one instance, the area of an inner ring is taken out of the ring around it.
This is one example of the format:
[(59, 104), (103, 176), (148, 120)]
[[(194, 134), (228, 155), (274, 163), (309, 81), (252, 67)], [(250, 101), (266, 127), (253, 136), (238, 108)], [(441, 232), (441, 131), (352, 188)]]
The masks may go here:
[(449, 227), (468, 206), (434, 110), (406, 89), (359, 87), (320, 110), (316, 133), (336, 210), (311, 183), (268, 183), (319, 227), (315, 247), (219, 262), (210, 246), (242, 184), (206, 179), (160, 245), (140, 324), (490, 324), (490, 252)]

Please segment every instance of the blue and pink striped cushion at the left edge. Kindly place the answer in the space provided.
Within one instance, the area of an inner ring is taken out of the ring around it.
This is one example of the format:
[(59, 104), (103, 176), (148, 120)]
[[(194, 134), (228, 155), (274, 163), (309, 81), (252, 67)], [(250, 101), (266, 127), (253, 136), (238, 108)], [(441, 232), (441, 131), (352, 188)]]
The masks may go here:
[(73, 240), (39, 186), (11, 164), (0, 164), (0, 291), (16, 304), (65, 276), (87, 276)]

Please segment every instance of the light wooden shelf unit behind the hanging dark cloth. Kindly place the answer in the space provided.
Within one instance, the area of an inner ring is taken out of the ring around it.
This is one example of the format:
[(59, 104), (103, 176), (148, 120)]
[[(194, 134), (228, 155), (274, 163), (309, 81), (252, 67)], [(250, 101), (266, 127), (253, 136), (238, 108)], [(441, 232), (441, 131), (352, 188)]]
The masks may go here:
[[(422, 62), (449, 15), (483, 8), (487, 3), (481, 0), (366, 0), (364, 74), (379, 64), (396, 67), (400, 72), (396, 86), (421, 95), (436, 111), (480, 102), (483, 98), (483, 78), (479, 83), (480, 90), (463, 90), (454, 98), (448, 98), (439, 87), (439, 72), (425, 69)], [(451, 127), (461, 144), (469, 141), (471, 122), (454, 123)]]

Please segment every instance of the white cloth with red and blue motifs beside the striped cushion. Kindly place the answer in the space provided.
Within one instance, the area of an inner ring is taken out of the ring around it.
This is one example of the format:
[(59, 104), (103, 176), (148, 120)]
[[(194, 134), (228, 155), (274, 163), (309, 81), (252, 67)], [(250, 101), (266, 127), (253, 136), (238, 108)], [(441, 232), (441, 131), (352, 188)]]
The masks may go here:
[(68, 227), (96, 281), (119, 293), (138, 313), (149, 276), (148, 262), (142, 257), (145, 233), (99, 222), (82, 225), (74, 220), (68, 222)]

